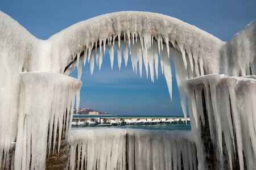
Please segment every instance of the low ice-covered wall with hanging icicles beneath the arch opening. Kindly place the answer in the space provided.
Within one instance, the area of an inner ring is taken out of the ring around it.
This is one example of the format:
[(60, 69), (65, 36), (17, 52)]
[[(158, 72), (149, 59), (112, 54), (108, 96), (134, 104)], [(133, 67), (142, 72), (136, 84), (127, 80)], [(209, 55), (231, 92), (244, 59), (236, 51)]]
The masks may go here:
[(70, 169), (197, 169), (190, 131), (86, 128), (69, 140)]

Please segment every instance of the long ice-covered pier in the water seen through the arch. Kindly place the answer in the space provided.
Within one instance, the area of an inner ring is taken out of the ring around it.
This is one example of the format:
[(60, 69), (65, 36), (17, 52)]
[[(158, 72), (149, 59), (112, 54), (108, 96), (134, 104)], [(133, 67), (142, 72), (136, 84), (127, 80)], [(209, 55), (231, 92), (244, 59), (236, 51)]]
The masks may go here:
[[(187, 118), (190, 122), (190, 119)], [(73, 126), (87, 125), (151, 125), (151, 124), (184, 124), (184, 117), (98, 117), (73, 118)]]

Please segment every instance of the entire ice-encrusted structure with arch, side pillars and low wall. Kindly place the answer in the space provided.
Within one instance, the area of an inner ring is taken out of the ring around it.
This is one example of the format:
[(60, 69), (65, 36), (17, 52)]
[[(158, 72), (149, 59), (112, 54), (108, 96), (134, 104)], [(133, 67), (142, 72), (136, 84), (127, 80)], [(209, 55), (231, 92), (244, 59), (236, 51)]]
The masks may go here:
[[(1, 11), (0, 23), (1, 169), (256, 169), (256, 21), (228, 42), (150, 12), (101, 15), (48, 40)], [(130, 54), (152, 81), (160, 56), (170, 96), (174, 61), (192, 131), (71, 130), (82, 63), (93, 73), (108, 49), (113, 66), (115, 47), (119, 67)]]

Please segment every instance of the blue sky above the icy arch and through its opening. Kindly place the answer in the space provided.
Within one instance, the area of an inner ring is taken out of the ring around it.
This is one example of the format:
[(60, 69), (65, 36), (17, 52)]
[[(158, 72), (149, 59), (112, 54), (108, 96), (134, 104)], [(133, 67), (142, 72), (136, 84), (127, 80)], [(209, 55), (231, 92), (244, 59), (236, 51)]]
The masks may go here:
[[(32, 35), (46, 40), (72, 24), (94, 16), (117, 11), (158, 12), (183, 20), (228, 41), (245, 25), (256, 19), (255, 0), (229, 1), (13, 1), (0, 0), (0, 10), (10, 15)], [(115, 56), (116, 57), (116, 56)], [(172, 65), (174, 69), (174, 65)], [(81, 107), (112, 114), (177, 115), (181, 116), (179, 93), (173, 80), (173, 100), (168, 94), (162, 74), (155, 83), (133, 73), (129, 59), (127, 68), (122, 63), (118, 70), (117, 59), (113, 70), (108, 54), (103, 58), (101, 71), (94, 68), (90, 75), (89, 64), (83, 68)], [(160, 73), (160, 70), (159, 70)], [(76, 70), (71, 76), (77, 76)], [(173, 71), (174, 77), (174, 71)]]

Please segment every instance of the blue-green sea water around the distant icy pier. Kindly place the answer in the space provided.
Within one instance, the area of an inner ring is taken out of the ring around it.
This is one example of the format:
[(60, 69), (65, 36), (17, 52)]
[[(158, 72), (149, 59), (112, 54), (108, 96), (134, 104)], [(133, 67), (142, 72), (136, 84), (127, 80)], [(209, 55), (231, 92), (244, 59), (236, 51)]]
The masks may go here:
[[(98, 118), (98, 117), (182, 117), (182, 116), (87, 116), (87, 115), (74, 115), (74, 118)], [(89, 126), (72, 126), (72, 128), (133, 128), (133, 129), (148, 129), (148, 130), (191, 130), (191, 124), (153, 124), (153, 125), (89, 125)]]

